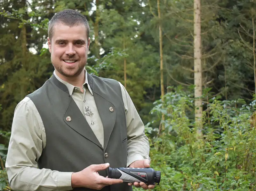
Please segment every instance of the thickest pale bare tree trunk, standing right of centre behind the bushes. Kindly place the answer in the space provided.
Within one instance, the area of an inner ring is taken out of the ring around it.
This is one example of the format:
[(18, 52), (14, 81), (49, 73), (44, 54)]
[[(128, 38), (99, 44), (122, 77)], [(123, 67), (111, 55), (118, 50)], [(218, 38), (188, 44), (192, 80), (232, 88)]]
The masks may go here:
[(202, 128), (202, 64), (201, 64), (201, 4), (194, 0), (194, 83), (195, 83), (195, 120)]

